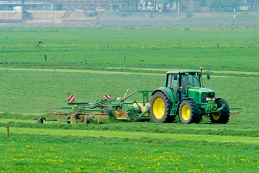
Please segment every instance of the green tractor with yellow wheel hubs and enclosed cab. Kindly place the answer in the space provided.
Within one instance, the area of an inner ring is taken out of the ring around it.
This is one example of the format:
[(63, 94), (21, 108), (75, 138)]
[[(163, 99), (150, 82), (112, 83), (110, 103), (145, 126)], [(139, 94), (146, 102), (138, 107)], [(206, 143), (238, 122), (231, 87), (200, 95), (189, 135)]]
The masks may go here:
[[(171, 123), (179, 116), (184, 124), (199, 123), (202, 116), (212, 123), (229, 121), (229, 105), (215, 98), (215, 91), (202, 86), (201, 71), (169, 71), (164, 87), (153, 91), (151, 118), (157, 123)], [(207, 75), (209, 80), (210, 76)]]

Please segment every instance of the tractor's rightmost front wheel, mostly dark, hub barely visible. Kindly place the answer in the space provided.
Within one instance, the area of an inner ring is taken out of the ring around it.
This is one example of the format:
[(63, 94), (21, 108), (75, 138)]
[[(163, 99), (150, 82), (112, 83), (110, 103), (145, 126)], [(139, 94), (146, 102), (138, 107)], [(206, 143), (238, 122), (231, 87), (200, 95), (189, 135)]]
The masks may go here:
[(222, 104), (225, 104), (225, 106), (218, 113), (211, 113), (209, 115), (211, 122), (226, 124), (229, 122), (229, 104), (227, 104), (226, 100), (223, 99), (215, 100), (215, 103), (218, 105), (218, 107), (222, 107)]

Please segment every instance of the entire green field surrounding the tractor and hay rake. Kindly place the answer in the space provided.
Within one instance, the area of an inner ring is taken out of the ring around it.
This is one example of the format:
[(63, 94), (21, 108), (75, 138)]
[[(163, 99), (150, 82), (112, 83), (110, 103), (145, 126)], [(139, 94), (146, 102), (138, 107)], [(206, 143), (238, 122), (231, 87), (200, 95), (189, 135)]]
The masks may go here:
[[(258, 172), (258, 39), (258, 28), (0, 28), (0, 172)], [(67, 95), (123, 97), (200, 66), (204, 86), (244, 108), (226, 125), (37, 123)]]

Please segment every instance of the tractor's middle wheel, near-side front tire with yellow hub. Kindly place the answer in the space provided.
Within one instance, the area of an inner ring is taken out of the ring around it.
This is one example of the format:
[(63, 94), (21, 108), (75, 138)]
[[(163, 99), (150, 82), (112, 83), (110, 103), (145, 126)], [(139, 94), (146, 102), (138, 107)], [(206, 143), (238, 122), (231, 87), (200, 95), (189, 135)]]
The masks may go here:
[(183, 124), (199, 123), (202, 120), (198, 104), (193, 100), (183, 100), (178, 112)]

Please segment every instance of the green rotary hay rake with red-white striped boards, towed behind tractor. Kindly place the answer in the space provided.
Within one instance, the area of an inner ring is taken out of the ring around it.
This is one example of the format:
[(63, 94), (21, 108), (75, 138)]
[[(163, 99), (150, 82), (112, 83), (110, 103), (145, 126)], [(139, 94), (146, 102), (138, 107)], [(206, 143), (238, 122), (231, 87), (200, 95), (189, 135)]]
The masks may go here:
[[(153, 91), (135, 91), (124, 98), (115, 100), (97, 100), (97, 102), (68, 102), (70, 107), (61, 107), (46, 110), (46, 116), (38, 118), (38, 122), (59, 121), (64, 123), (75, 124), (84, 122), (105, 123), (110, 118), (116, 120), (137, 120), (149, 121), (151, 116), (149, 113), (148, 93)], [(126, 92), (127, 93), (127, 92)], [(142, 93), (142, 101), (126, 101), (136, 93)], [(74, 100), (68, 95), (68, 101)]]

